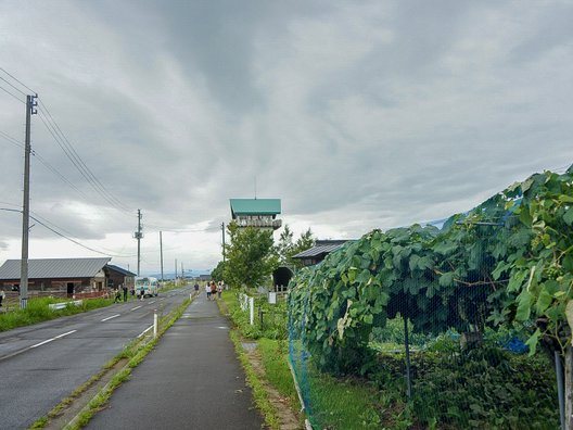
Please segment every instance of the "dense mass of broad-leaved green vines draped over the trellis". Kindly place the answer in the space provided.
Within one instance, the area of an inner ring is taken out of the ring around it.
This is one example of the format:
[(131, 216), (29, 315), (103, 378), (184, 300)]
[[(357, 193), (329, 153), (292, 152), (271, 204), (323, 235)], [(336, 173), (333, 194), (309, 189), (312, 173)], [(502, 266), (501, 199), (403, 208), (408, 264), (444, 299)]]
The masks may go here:
[(373, 230), (291, 281), (291, 329), (316, 363), (357, 372), (373, 327), (483, 332), (520, 321), (527, 344), (562, 352), (573, 314), (573, 169), (514, 184), (442, 229)]

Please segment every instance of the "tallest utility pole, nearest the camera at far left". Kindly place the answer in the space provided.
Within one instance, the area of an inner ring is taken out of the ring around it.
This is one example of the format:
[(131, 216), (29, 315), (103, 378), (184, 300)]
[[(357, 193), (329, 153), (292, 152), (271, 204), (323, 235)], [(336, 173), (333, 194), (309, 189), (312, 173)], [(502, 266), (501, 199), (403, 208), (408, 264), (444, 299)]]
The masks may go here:
[(29, 155), (30, 146), (30, 122), (31, 115), (36, 115), (38, 94), (26, 96), (26, 138), (24, 146), (24, 199), (22, 204), (22, 262), (20, 270), (20, 307), (25, 309), (28, 305), (28, 235), (29, 235)]

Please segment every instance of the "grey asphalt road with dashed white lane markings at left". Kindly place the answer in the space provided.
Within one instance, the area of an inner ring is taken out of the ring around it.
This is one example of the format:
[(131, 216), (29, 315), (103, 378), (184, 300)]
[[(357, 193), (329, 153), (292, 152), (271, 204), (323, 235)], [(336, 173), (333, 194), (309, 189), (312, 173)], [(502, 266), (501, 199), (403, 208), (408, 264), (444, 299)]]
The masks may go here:
[(0, 429), (25, 429), (165, 315), (190, 287), (0, 333)]

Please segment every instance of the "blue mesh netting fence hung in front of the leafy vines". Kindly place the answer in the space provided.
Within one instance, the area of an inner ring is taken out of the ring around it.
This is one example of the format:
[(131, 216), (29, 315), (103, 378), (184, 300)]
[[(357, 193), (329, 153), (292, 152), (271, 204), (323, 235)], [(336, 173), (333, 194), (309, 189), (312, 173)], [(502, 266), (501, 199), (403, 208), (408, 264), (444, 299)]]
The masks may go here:
[(313, 428), (559, 429), (571, 184), (538, 175), (297, 274), (290, 361)]

